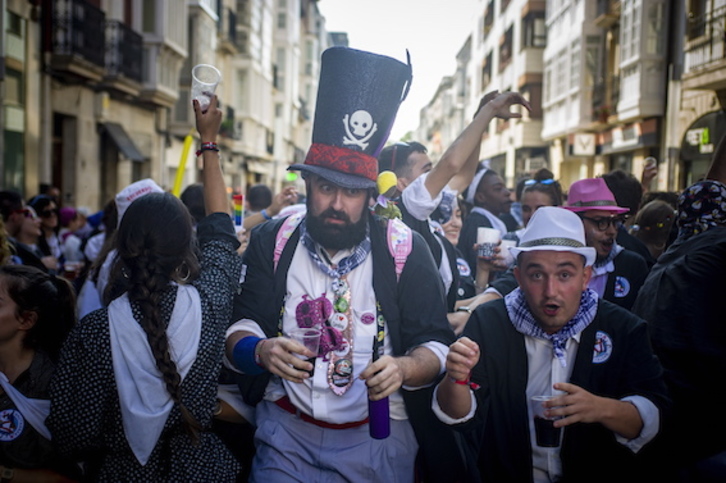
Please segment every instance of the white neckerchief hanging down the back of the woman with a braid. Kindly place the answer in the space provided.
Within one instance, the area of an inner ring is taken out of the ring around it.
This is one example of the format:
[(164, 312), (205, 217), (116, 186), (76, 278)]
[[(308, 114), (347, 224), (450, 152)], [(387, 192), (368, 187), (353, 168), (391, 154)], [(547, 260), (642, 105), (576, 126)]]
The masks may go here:
[[(134, 319), (127, 294), (111, 302), (108, 321), (124, 434), (136, 459), (145, 465), (174, 402), (156, 367), (146, 333)], [(201, 330), (199, 292), (191, 285), (179, 285), (166, 335), (182, 380), (197, 358)]]

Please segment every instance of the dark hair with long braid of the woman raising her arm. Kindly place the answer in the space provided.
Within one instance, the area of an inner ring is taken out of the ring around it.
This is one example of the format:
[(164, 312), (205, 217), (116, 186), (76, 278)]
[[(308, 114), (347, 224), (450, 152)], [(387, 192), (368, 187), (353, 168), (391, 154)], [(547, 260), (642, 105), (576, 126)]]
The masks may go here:
[(198, 273), (191, 217), (174, 196), (148, 194), (134, 201), (116, 233), (118, 260), (111, 272), (114, 292), (127, 292), (141, 312), (141, 327), (172, 400), (179, 405), (184, 429), (195, 443), (202, 426), (182, 403), (181, 376), (169, 352), (166, 325), (159, 310), (180, 266)]

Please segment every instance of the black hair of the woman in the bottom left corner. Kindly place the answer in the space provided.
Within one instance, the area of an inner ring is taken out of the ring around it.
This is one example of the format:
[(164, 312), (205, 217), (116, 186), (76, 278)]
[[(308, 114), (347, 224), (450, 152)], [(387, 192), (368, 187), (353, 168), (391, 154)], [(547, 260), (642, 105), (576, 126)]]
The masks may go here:
[(48, 275), (27, 265), (0, 267), (10, 298), (18, 306), (17, 316), (35, 312), (35, 325), (23, 339), (26, 347), (42, 350), (54, 361), (76, 323), (76, 295), (64, 278)]

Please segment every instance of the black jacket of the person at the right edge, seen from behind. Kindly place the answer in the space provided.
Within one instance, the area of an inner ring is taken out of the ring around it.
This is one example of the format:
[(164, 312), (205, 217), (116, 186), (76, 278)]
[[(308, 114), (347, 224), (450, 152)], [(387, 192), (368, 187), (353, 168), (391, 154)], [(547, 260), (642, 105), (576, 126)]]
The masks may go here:
[(674, 402), (667, 435), (679, 461), (726, 451), (724, 297), (726, 227), (719, 227), (677, 239), (658, 259), (633, 307), (648, 321), (666, 371)]

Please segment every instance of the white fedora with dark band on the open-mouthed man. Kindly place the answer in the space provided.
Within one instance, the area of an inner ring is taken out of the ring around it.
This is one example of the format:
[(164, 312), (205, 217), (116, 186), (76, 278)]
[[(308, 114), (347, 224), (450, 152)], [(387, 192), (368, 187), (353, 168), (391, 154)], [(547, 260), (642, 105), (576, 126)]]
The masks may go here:
[(596, 252), (585, 244), (585, 229), (575, 213), (557, 206), (543, 206), (534, 212), (519, 245), (509, 253), (516, 259), (522, 252), (549, 250), (572, 252), (585, 257), (585, 265), (595, 263)]

